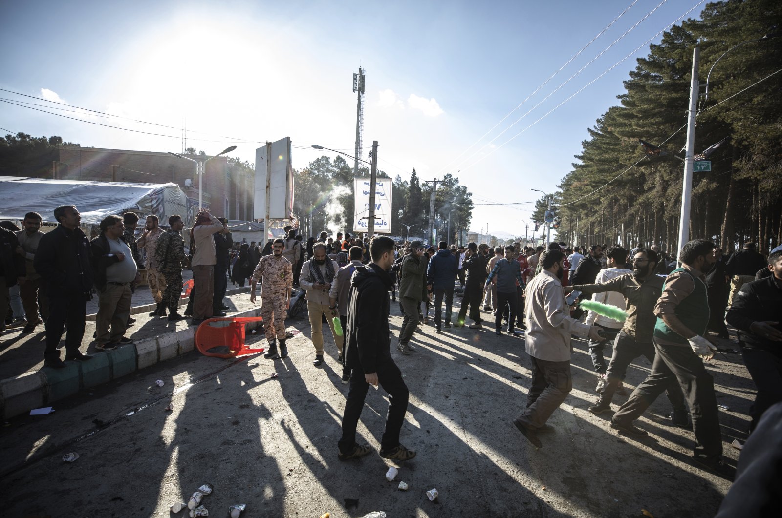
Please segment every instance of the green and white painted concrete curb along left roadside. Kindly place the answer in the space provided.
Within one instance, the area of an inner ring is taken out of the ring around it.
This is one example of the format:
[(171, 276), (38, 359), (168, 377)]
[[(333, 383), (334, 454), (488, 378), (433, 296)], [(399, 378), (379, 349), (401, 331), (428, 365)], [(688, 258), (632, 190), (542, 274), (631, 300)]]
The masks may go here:
[[(260, 316), (260, 308), (246, 309), (231, 316)], [(253, 329), (260, 327), (261, 323), (246, 325)], [(194, 348), (195, 327), (185, 327), (175, 333), (158, 334), (135, 344), (120, 345), (113, 351), (96, 352), (88, 362), (67, 361), (64, 369), (43, 367), (38, 372), (5, 378), (0, 380), (0, 412), (7, 420), (31, 409), (51, 405), (85, 388), (108, 383), (191, 352)]]

